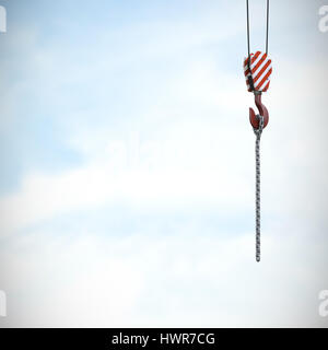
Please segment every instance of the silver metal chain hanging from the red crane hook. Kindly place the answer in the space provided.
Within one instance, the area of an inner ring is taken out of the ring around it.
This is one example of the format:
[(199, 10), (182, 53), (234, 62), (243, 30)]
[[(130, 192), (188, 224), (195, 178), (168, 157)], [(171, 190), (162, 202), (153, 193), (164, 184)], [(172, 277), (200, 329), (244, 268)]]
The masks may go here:
[(256, 261), (260, 261), (261, 259), (261, 187), (260, 187), (260, 140), (263, 131), (265, 118), (262, 116), (257, 116), (259, 118), (259, 128), (254, 129), (254, 133), (256, 135), (255, 141), (255, 160), (256, 160)]

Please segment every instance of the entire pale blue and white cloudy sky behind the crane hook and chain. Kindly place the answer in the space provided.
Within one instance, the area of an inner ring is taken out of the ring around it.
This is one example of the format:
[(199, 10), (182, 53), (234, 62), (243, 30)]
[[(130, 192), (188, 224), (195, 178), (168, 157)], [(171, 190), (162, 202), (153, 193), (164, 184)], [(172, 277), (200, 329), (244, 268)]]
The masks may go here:
[(271, 2), (257, 264), (245, 1), (0, 1), (0, 326), (328, 326), (328, 3)]

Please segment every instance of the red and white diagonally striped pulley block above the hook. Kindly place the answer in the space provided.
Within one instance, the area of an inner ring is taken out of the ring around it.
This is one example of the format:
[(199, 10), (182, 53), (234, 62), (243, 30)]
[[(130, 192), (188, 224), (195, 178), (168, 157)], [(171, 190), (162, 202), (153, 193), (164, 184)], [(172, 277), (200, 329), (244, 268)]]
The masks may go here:
[(244, 74), (246, 77), (247, 90), (251, 92), (248, 77), (253, 77), (254, 89), (256, 91), (266, 92), (270, 85), (270, 75), (272, 73), (271, 60), (267, 54), (256, 51), (250, 54), (250, 71), (248, 69), (248, 57), (244, 59)]

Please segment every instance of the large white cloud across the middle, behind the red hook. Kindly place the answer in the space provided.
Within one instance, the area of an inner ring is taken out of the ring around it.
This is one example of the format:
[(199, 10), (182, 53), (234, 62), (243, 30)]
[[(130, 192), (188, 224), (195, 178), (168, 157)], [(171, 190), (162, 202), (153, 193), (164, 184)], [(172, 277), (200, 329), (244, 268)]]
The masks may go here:
[[(289, 69), (290, 66), (281, 62), (281, 67)], [(307, 75), (314, 72), (306, 67), (298, 67), (300, 70)], [(277, 73), (281, 89), (286, 92), (292, 89), (297, 71), (294, 77), (290, 73), (290, 80), (281, 79)], [(250, 103), (251, 97), (249, 95), (247, 101), (244, 91), (243, 95), (239, 90), (234, 92), (233, 83), (231, 86), (227, 83), (224, 90), (215, 88), (214, 81), (219, 77), (229, 82), (229, 77), (211, 62), (196, 63), (169, 82), (172, 96), (176, 96), (173, 102), (156, 107), (150, 105), (138, 128), (78, 131), (72, 144), (86, 155), (86, 164), (54, 175), (26, 175), (20, 191), (0, 200), (2, 235), (60, 213), (108, 203), (121, 202), (149, 210), (186, 206), (209, 206), (230, 212), (249, 210), (254, 190), (254, 136), (247, 121), (247, 102)], [(281, 212), (293, 207), (308, 210), (304, 201), (283, 195), (286, 191), (301, 198), (311, 196), (312, 186), (302, 188), (303, 192), (298, 186), (317, 172), (300, 174), (298, 166), (304, 166), (305, 161), (317, 165), (320, 158), (316, 150), (318, 139), (308, 132), (313, 125), (308, 117), (308, 100), (313, 98), (315, 105), (316, 93), (309, 95), (307, 92), (305, 105), (302, 102), (296, 105), (295, 100), (304, 94), (303, 86), (297, 86), (289, 93), (289, 98), (280, 97), (281, 94), (277, 95), (274, 91), (271, 101), (269, 95), (268, 98), (263, 96), (272, 110), (272, 120), (262, 139), (267, 180), (263, 182), (263, 194), (270, 195), (268, 211), (276, 208)], [(185, 110), (181, 110), (183, 105)], [(195, 106), (199, 110), (195, 110)], [(200, 106), (209, 110), (208, 115), (199, 114)], [(181, 115), (172, 118), (172, 110), (179, 110)], [(164, 128), (152, 124), (152, 117), (161, 120), (165, 116)], [(324, 178), (316, 180), (323, 182), (319, 186), (326, 189)], [(283, 196), (283, 203), (277, 194)]]

